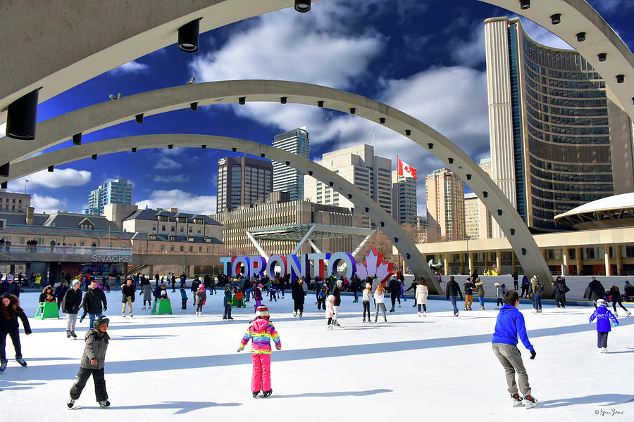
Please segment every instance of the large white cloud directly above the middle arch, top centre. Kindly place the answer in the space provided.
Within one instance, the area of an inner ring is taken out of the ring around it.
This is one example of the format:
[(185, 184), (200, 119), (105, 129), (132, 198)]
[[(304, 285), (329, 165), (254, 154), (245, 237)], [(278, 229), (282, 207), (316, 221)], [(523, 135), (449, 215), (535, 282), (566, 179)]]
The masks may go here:
[(286, 79), (350, 87), (383, 49), (385, 37), (370, 31), (340, 34), (344, 16), (333, 12), (352, 12), (342, 4), (322, 10), (302, 16), (292, 11), (263, 15), (218, 51), (195, 57), (189, 67), (201, 82)]

